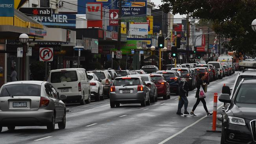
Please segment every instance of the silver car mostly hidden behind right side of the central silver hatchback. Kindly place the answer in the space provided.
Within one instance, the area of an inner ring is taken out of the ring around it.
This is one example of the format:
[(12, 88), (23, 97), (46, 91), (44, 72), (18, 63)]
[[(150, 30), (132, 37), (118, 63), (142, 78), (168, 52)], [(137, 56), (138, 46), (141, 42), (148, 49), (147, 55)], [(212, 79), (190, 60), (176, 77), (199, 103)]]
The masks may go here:
[(149, 74), (137, 74), (137, 75), (129, 75), (129, 76), (140, 76), (145, 81), (145, 83), (150, 83), (151, 85), (147, 86), (149, 89), (150, 102), (158, 101), (157, 87), (154, 81), (149, 76)]

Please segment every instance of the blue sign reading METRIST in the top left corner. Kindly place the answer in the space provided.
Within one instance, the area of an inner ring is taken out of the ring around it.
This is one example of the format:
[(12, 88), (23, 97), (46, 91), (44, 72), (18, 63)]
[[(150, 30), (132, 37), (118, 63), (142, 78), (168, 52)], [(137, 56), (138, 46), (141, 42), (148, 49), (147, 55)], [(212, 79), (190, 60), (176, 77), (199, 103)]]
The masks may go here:
[(0, 17), (14, 17), (14, 0), (0, 1)]

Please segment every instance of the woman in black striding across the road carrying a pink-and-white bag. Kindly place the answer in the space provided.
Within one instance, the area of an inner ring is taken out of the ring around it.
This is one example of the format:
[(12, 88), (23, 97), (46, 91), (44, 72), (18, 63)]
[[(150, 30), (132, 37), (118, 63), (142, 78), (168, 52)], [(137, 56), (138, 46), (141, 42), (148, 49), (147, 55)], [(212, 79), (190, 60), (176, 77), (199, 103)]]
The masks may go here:
[(204, 74), (204, 73), (200, 73), (199, 75), (198, 75), (198, 80), (197, 80), (197, 92), (196, 92), (196, 98), (197, 98), (197, 102), (195, 103), (195, 105), (193, 106), (193, 109), (192, 109), (192, 111), (190, 112), (190, 114), (189, 115), (191, 115), (191, 116), (197, 116), (197, 115), (195, 115), (194, 114), (194, 111), (195, 111), (195, 109), (197, 108), (197, 105), (200, 103), (200, 102), (202, 102), (203, 103), (203, 105), (204, 105), (204, 110), (206, 111), (206, 114), (207, 114), (207, 116), (211, 116), (212, 115), (212, 113), (209, 113), (209, 111), (208, 111), (208, 109), (207, 109), (207, 106), (206, 106), (206, 102), (205, 102), (205, 100), (204, 100), (204, 98), (199, 98), (199, 92), (200, 92), (200, 87), (202, 86), (202, 88), (204, 89), (204, 86), (206, 85), (206, 83), (204, 82), (204, 79), (206, 78), (206, 74)]

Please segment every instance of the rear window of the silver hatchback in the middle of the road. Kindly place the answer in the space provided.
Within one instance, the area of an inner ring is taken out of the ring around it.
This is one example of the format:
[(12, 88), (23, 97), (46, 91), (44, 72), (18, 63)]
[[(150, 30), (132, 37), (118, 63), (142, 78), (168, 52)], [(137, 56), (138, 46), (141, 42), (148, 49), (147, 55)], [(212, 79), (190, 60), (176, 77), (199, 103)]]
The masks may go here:
[(139, 78), (116, 78), (113, 86), (141, 85)]

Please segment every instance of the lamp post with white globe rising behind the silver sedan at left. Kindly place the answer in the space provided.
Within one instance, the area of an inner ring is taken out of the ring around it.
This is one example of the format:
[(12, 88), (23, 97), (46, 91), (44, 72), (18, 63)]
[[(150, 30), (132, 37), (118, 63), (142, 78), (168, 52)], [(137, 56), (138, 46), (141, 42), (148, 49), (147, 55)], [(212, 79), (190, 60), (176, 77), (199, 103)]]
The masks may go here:
[(25, 66), (26, 66), (26, 51), (27, 51), (27, 42), (29, 40), (29, 37), (26, 33), (22, 33), (20, 36), (19, 36), (19, 41), (20, 43), (23, 44), (23, 55), (22, 55), (22, 70), (21, 70), (21, 73), (22, 73), (22, 80), (24, 81), (25, 80)]

